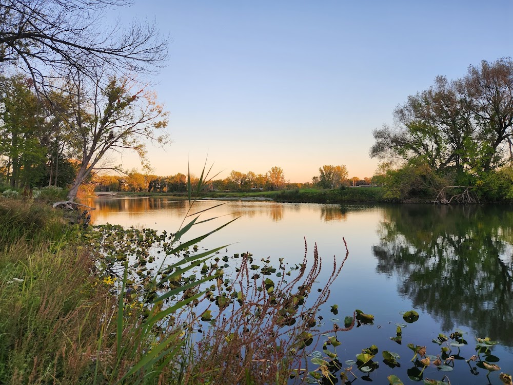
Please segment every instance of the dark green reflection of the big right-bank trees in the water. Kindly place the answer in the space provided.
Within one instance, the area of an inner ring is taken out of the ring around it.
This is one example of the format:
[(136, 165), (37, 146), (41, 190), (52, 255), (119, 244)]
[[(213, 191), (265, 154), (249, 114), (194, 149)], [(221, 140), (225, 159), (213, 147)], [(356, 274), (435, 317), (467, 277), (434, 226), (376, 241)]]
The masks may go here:
[(402, 205), (384, 209), (377, 270), (445, 331), (467, 325), (513, 346), (513, 211)]

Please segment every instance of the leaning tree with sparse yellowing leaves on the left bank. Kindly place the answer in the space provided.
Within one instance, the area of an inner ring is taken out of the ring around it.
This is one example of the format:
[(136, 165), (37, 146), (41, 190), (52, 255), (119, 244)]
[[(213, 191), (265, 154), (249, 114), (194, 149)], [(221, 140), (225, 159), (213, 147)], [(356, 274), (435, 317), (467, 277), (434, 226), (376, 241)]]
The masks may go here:
[[(107, 85), (100, 87), (102, 79)], [(74, 200), (78, 187), (88, 178), (108, 152), (134, 150), (145, 160), (145, 141), (168, 142), (167, 134), (159, 132), (167, 126), (167, 115), (152, 91), (114, 75), (98, 75), (96, 81), (76, 74), (63, 88), (68, 89), (67, 103), (72, 109), (74, 134), (71, 145), (77, 151), (81, 167), (68, 199)]]

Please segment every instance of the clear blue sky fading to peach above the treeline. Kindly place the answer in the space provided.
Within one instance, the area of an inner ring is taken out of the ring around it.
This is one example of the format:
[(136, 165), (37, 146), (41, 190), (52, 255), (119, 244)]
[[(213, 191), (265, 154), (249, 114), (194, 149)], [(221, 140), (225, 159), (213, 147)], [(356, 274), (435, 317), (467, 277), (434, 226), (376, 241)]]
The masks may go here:
[[(513, 56), (513, 0), (135, 0), (123, 21), (155, 21), (169, 59), (153, 78), (170, 112), (154, 174), (212, 170), (307, 182), (325, 164), (371, 177), (372, 130), (437, 75)], [(125, 168), (139, 167), (123, 156)]]

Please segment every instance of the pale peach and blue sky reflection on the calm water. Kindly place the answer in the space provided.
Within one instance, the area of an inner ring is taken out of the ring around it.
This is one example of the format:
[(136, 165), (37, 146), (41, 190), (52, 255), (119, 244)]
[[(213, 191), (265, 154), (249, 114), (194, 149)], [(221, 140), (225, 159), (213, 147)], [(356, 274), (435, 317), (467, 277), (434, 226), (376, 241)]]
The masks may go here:
[[(221, 203), (224, 202), (199, 201), (196, 202), (193, 211), (201, 211)], [(102, 198), (89, 200), (85, 204), (98, 208), (92, 213), (94, 224), (108, 222), (126, 227), (147, 226), (167, 232), (175, 232), (180, 227), (188, 208), (188, 202), (170, 201), (167, 198)], [(396, 335), (395, 323), (404, 322), (399, 312), (412, 309), (412, 302), (408, 295), (398, 294), (403, 273), (399, 270), (389, 274), (377, 273), (378, 260), (372, 251), (372, 247), (379, 245), (382, 241), (383, 223), (392, 222), (390, 219), (392, 210), (394, 209), (389, 210), (387, 207), (379, 206), (354, 205), (341, 208), (338, 205), (306, 203), (228, 201), (220, 207), (203, 213), (200, 217), (202, 219), (220, 218), (194, 226), (187, 235), (187, 239), (207, 233), (233, 218), (240, 217), (220, 232), (211, 235), (200, 246), (215, 247), (231, 243), (228, 246), (228, 255), (249, 251), (257, 263), (261, 258), (269, 256), (271, 261), (276, 261), (278, 265), (278, 258), (281, 257), (285, 258), (289, 264), (301, 262), (304, 254), (303, 237), (306, 237), (308, 255), (312, 256), (314, 242), (317, 242), (319, 254), (323, 258), (323, 273), (318, 286), (321, 287), (322, 278), (329, 275), (331, 271), (333, 255), (337, 256), (339, 261), (345, 256), (342, 241), (344, 237), (349, 248), (349, 258), (338, 280), (331, 287), (328, 303), (323, 306), (323, 322), (326, 324), (326, 329), (332, 327), (330, 318), (339, 318), (339, 324), (343, 324), (344, 317), (351, 315), (354, 309), (374, 314), (376, 323), (373, 326), (362, 326), (339, 336), (342, 345), (337, 352), (342, 361), (354, 359), (354, 355), (371, 344), (378, 345), (379, 357), (383, 350), (398, 352), (402, 356), (403, 367), (391, 370), (381, 363), (380, 359), (380, 377), (396, 374), (403, 377), (404, 381), (407, 380), (405, 372), (410, 367), (408, 360), (411, 358), (406, 344), (409, 342), (427, 344), (428, 354), (437, 354), (438, 345), (430, 341), (443, 330), (441, 320), (433, 319), (427, 312), (417, 307), (421, 317), (419, 321), (408, 325), (408, 328), (403, 330), (403, 345), (389, 340), (389, 337)], [(500, 232), (510, 234), (511, 229), (510, 227), (506, 230), (501, 228)], [(418, 237), (421, 241), (427, 241), (423, 239), (426, 237), (425, 229), (423, 232), (418, 232)], [(404, 242), (404, 237), (400, 235), (397, 240)], [(509, 243), (506, 244), (505, 252), (500, 258), (510, 260), (510, 256), (506, 255), (508, 252), (511, 252)], [(404, 279), (406, 278), (404, 276)], [(436, 290), (436, 288), (422, 290)], [(312, 294), (316, 292), (317, 287), (314, 287)], [(339, 305), (337, 316), (329, 313), (329, 305), (335, 303)], [(493, 303), (490, 303), (490, 307), (493, 308)], [(456, 326), (469, 331), (462, 326), (465, 320), (454, 319), (454, 322)], [(469, 345), (462, 348), (462, 355), (470, 357), (474, 347), (473, 335), (466, 336), (466, 339)], [(496, 347), (495, 352), (501, 358), (499, 365), (503, 369), (513, 368), (512, 356), (504, 348)], [(465, 362), (463, 363), (466, 365)], [(426, 377), (441, 379), (442, 375), (438, 375), (431, 367), (426, 369), (424, 378)], [(495, 377), (490, 375), (490, 377), (492, 383), (500, 383), (497, 382), (498, 375)], [(449, 378), (451, 383), (481, 383), (483, 379), (481, 375), (477, 377), (470, 375), (468, 366), (466, 371), (461, 373), (458, 371), (458, 377), (451, 377), (449, 374)]]

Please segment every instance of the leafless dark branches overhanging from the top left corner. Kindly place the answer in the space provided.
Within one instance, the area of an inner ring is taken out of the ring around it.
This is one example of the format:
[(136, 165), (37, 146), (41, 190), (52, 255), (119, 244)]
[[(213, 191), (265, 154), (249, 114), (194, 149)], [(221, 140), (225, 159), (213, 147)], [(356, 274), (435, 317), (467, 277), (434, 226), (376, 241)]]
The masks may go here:
[(167, 57), (168, 39), (154, 24), (136, 20), (102, 25), (106, 12), (129, 0), (0, 0), (0, 68), (11, 64), (30, 74), (40, 90), (71, 71), (95, 78), (106, 65), (149, 73)]

